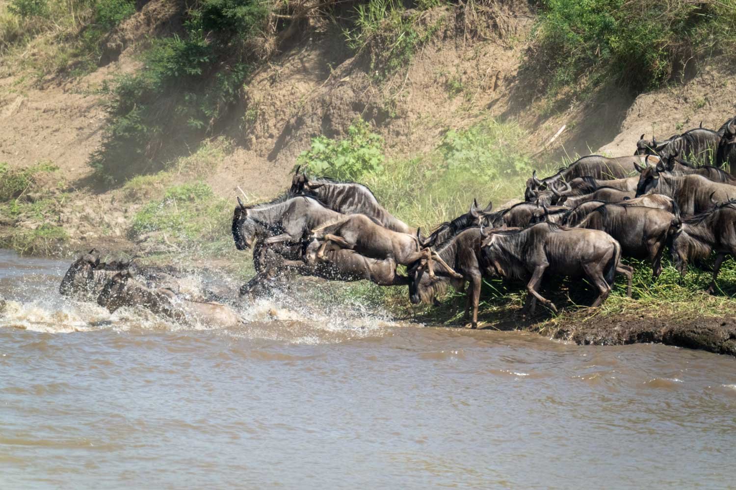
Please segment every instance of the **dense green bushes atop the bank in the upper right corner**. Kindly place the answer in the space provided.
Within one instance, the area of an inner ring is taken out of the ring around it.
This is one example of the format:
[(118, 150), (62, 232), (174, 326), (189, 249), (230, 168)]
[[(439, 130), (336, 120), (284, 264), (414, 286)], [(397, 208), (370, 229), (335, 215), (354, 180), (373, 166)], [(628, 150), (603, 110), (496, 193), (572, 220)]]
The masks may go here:
[[(522, 70), (553, 73), (547, 89), (588, 90), (612, 80), (647, 90), (686, 63), (736, 46), (732, 0), (543, 0)], [(548, 79), (548, 75), (542, 78)]]

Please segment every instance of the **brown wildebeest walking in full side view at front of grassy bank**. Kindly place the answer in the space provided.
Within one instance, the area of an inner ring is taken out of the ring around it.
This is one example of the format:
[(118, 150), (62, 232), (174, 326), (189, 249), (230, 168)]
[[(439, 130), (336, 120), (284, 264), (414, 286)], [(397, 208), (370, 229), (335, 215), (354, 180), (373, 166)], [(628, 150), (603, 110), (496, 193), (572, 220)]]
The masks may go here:
[(553, 311), (557, 307), (539, 295), (545, 273), (587, 278), (598, 289), (592, 306), (600, 306), (611, 292), (616, 273), (629, 280), (633, 270), (620, 263), (621, 246), (604, 231), (560, 228), (539, 223), (519, 231), (488, 230), (482, 244), (487, 272), (504, 278), (528, 281), (526, 307), (534, 314), (537, 300)]

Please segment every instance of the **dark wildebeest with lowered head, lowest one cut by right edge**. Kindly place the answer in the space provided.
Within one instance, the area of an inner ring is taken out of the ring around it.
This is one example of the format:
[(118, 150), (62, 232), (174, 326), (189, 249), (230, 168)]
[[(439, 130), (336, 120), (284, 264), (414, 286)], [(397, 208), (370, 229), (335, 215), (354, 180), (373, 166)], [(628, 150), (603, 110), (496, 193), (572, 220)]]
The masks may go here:
[(707, 259), (712, 251), (715, 257), (713, 280), (708, 292), (715, 291), (715, 280), (726, 255), (736, 256), (736, 201), (714, 203), (714, 208), (687, 218), (674, 235), (670, 245), (675, 268), (684, 277), (688, 262)]

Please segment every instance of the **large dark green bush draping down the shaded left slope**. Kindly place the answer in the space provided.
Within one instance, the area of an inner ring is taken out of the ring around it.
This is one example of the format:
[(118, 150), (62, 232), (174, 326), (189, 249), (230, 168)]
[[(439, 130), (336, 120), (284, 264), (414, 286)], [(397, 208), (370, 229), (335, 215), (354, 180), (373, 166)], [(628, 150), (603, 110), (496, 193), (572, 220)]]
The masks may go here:
[(268, 10), (257, 0), (205, 0), (187, 12), (185, 35), (152, 41), (145, 68), (113, 88), (109, 126), (91, 165), (107, 181), (160, 169), (171, 148), (213, 130), (250, 73), (249, 43)]

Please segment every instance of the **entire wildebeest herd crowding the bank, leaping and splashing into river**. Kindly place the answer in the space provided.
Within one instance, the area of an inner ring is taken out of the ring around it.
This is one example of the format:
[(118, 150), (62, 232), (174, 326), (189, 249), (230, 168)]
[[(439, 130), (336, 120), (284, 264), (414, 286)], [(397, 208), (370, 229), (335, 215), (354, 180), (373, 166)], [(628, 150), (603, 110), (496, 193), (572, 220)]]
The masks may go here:
[[(543, 179), (535, 171), (525, 202), (493, 211), (474, 200), (428, 236), (363, 184), (314, 179), (297, 167), (279, 198), (253, 206), (238, 198), (233, 239), (238, 250), (253, 249), (256, 271), (240, 296), (263, 295), (296, 274), (406, 285), (411, 303), (436, 303), (447, 285), (470, 284), (465, 315), (472, 310), (475, 328), (484, 276), (526, 282), (530, 314), (537, 301), (556, 311), (539, 293), (551, 276), (587, 279), (599, 306), (618, 274), (631, 295), (633, 269), (622, 257), (645, 259), (657, 279), (665, 248), (682, 275), (715, 252), (712, 292), (723, 259), (736, 254), (736, 177), (726, 167), (735, 173), (736, 118), (718, 131), (700, 127), (663, 141), (642, 135), (633, 156), (583, 156)], [(91, 251), (71, 265), (60, 292), (110, 311), (144, 306), (183, 323), (242, 321), (227, 295), (184, 291), (180, 281), (131, 262), (100, 262)]]

